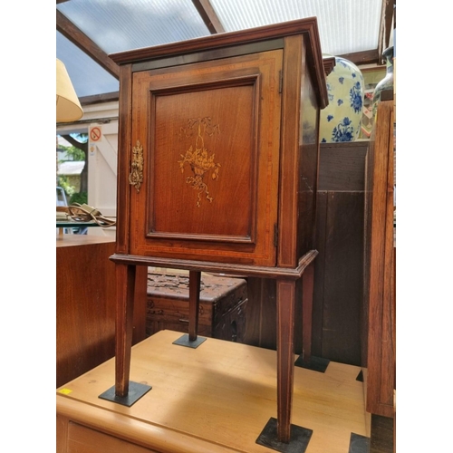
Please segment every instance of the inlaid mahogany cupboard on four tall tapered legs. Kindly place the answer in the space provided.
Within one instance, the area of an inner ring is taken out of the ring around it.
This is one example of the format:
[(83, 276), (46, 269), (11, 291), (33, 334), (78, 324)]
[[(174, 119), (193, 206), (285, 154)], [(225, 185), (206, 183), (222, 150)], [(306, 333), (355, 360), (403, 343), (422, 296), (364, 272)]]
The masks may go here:
[(295, 285), (302, 278), (309, 320), (328, 103), (316, 18), (110, 56), (120, 65), (114, 399), (130, 391), (136, 266), (189, 271), (193, 345), (201, 272), (275, 278), (276, 436), (288, 443)]

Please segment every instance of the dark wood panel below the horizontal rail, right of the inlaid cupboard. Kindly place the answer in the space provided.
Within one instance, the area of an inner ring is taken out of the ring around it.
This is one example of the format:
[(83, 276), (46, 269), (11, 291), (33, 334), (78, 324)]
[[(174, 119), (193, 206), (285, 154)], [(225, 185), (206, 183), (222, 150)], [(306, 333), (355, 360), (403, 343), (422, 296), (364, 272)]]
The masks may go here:
[(322, 356), (359, 366), (363, 193), (327, 194), (326, 232)]

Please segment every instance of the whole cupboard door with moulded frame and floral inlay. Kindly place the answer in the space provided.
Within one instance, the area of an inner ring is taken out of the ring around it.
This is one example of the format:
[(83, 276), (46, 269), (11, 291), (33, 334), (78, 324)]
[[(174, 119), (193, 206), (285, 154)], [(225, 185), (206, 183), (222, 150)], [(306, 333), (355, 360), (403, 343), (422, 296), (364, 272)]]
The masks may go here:
[(133, 74), (133, 255), (275, 265), (282, 57)]

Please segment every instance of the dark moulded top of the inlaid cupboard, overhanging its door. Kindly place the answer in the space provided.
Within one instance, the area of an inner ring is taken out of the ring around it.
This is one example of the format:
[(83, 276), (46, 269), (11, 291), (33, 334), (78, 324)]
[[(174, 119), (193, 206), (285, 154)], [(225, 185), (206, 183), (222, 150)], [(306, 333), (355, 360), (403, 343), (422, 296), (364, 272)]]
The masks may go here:
[(120, 65), (169, 59), (178, 55), (189, 53), (212, 52), (238, 45), (265, 43), (282, 39), (281, 47), (284, 48), (283, 38), (302, 34), (307, 49), (307, 63), (313, 73), (313, 82), (319, 92), (320, 107), (327, 104), (327, 87), (323, 67), (323, 54), (316, 17), (307, 17), (280, 24), (264, 25), (236, 32), (211, 34), (200, 38), (190, 39), (177, 43), (166, 43), (151, 47), (141, 47), (131, 51), (111, 53), (111, 59)]

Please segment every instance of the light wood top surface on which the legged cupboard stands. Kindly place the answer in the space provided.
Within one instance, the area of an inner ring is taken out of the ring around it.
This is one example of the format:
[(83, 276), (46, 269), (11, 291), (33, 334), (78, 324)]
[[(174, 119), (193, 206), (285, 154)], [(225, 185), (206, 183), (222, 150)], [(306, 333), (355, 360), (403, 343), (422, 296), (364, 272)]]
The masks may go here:
[[(158, 451), (273, 451), (255, 440), (276, 418), (276, 352), (212, 338), (172, 344), (180, 336), (160, 331), (132, 348), (130, 380), (152, 390), (130, 408), (98, 398), (114, 385), (112, 359), (57, 389), (57, 413)], [(295, 367), (292, 423), (313, 429), (306, 453), (348, 453), (351, 433), (368, 435), (360, 371)]]

